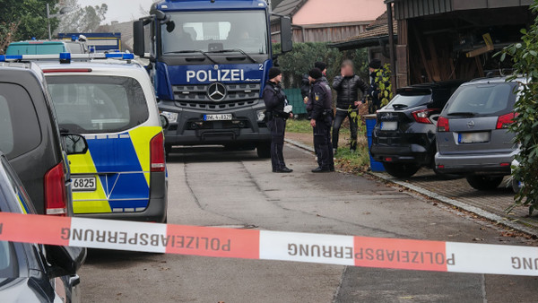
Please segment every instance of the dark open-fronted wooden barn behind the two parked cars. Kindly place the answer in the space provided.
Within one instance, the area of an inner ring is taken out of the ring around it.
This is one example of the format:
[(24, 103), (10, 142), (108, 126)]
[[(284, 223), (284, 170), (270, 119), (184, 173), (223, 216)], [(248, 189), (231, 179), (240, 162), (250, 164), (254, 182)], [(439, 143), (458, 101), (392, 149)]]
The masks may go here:
[(365, 45), (368, 37), (359, 34), (334, 46), (379, 48), (386, 43), (389, 51), (382, 54), (386, 62), (395, 65), (397, 87), (470, 80), (509, 68), (493, 55), (519, 41), (520, 30), (534, 22), (534, 14), (529, 10), (533, 0), (386, 0), (385, 3), (387, 18), (394, 15), (393, 37), (397, 38), (389, 39), (386, 28), (377, 32), (379, 43)]

